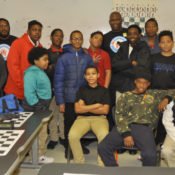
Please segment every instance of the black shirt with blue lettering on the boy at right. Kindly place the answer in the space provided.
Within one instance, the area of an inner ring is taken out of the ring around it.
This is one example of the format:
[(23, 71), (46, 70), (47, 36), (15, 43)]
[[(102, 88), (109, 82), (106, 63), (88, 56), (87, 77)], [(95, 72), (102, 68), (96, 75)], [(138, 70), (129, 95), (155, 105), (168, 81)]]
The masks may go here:
[(163, 56), (161, 53), (151, 57), (153, 89), (175, 89), (175, 54)]

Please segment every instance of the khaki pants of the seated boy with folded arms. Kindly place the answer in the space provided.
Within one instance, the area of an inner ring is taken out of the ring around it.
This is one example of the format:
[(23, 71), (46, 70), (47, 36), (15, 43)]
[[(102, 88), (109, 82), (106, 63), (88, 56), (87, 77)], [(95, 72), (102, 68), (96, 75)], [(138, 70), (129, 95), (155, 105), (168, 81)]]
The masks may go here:
[[(80, 139), (90, 130), (94, 132), (94, 134), (97, 136), (98, 143), (100, 143), (109, 132), (109, 125), (106, 117), (78, 116), (77, 119), (74, 121), (70, 129), (68, 138), (75, 163), (85, 162), (82, 147), (80, 144)], [(103, 166), (103, 162), (99, 155), (98, 164)]]

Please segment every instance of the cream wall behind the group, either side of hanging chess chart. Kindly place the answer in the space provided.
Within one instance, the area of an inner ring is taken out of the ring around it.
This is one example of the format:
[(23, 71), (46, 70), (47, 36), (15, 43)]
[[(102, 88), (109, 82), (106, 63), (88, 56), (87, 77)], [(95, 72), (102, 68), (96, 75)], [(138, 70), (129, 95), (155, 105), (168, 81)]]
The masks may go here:
[[(170, 29), (175, 34), (174, 7), (174, 0), (159, 0), (159, 29)], [(93, 31), (110, 30), (111, 11), (112, 0), (0, 0), (0, 17), (9, 20), (11, 34), (20, 37), (26, 32), (28, 21), (36, 19), (44, 26), (41, 43), (47, 48), (54, 28), (63, 29), (64, 43), (69, 42), (71, 31), (81, 30), (84, 47), (88, 47)]]

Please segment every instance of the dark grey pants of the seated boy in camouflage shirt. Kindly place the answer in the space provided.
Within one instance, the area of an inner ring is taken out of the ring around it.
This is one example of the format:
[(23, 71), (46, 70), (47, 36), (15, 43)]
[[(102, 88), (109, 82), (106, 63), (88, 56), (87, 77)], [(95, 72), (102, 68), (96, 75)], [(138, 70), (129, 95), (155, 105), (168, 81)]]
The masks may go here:
[[(138, 124), (131, 124), (130, 128), (135, 146), (141, 151), (143, 166), (156, 166), (156, 144), (152, 129)], [(123, 138), (114, 127), (98, 145), (98, 153), (105, 166), (118, 166), (114, 158), (114, 152), (121, 149), (122, 146), (124, 146)]]

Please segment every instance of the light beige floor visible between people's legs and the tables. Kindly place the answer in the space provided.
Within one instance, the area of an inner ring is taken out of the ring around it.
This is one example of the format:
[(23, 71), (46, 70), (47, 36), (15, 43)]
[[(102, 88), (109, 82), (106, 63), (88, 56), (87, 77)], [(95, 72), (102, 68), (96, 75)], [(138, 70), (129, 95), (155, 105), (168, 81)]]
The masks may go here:
[[(88, 164), (97, 164), (97, 142), (93, 142), (87, 146), (90, 150), (88, 155), (85, 155), (86, 163)], [(47, 150), (46, 155), (49, 157), (54, 157), (55, 162), (57, 163), (66, 163), (67, 159), (64, 157), (64, 147), (58, 144), (55, 149)], [(141, 167), (141, 161), (138, 160), (140, 153), (138, 152), (136, 155), (130, 155), (127, 151), (123, 154), (120, 154), (119, 165), (121, 167), (127, 166), (135, 166)], [(71, 161), (73, 163), (73, 161)], [(161, 167), (166, 167), (164, 161), (161, 161)], [(37, 175), (39, 169), (26, 169), (19, 168), (14, 175)]]

